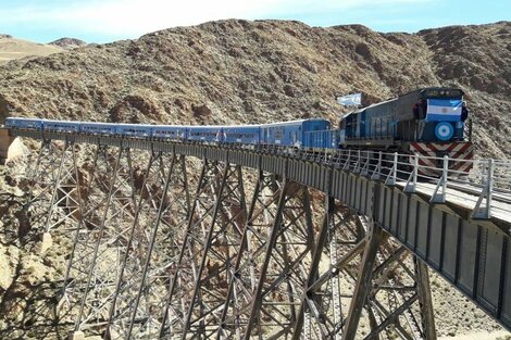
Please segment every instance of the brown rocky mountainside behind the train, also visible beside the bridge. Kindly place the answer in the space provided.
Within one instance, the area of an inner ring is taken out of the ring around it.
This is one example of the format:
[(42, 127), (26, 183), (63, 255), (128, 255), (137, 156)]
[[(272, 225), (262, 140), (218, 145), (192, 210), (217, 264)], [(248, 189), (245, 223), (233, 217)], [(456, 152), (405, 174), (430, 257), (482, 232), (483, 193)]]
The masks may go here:
[[(364, 91), (376, 101), (432, 85), (465, 90), (479, 156), (510, 156), (508, 22), (417, 34), (234, 20), (173, 28), (0, 66), (0, 123), (10, 115), (174, 124), (337, 121), (344, 112), (338, 95)], [(29, 256), (39, 243), (26, 232), (22, 194), (9, 176), (0, 176), (0, 270), (9, 276), (0, 280), (0, 311), (12, 315), (1, 325), (30, 329), (30, 316), (16, 319), (16, 311), (35, 297), (51, 299), (45, 289), (62, 270), (63, 254)], [(456, 314), (437, 318), (440, 335), (499, 329), (441, 279), (434, 287), (439, 315)]]

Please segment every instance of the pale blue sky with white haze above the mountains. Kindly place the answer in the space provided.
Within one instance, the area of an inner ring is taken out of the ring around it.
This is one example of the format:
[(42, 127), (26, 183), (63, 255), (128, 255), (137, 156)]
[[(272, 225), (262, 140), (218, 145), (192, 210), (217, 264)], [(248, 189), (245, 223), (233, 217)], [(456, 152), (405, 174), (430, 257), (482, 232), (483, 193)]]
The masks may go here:
[(0, 33), (38, 42), (110, 42), (232, 17), (413, 33), (510, 21), (511, 0), (0, 0)]

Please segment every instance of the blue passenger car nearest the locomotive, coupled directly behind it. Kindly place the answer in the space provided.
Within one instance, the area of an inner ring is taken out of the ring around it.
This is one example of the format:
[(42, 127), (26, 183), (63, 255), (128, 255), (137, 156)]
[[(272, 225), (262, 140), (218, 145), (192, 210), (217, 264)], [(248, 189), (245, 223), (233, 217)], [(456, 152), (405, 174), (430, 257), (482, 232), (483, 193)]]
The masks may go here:
[(311, 148), (310, 140), (306, 139), (306, 133), (329, 128), (331, 122), (321, 118), (272, 123), (261, 125), (260, 138), (263, 144)]

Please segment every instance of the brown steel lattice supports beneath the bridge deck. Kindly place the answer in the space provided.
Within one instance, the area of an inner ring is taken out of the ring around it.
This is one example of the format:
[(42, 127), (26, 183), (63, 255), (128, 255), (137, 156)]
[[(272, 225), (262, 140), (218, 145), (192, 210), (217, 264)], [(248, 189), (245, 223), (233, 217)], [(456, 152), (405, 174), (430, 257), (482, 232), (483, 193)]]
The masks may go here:
[(72, 331), (435, 339), (426, 266), (333, 198), (235, 164), (202, 159), (194, 176), (172, 152), (87, 148), (45, 141), (32, 175), (40, 230), (70, 244), (58, 310)]

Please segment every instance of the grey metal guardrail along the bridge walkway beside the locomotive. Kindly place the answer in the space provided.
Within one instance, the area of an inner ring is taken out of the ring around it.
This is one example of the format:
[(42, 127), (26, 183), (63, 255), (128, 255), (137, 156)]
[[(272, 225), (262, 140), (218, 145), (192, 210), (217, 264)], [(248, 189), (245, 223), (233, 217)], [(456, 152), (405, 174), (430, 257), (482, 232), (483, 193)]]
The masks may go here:
[[(460, 160), (447, 155), (434, 158), (365, 150), (289, 149), (270, 144), (260, 146), (259, 149), (332, 165), (372, 179), (385, 180), (387, 185), (394, 186), (399, 181), (406, 192), (416, 192), (417, 185), (422, 182), (433, 184), (432, 203), (446, 202), (448, 189), (475, 194), (478, 200), (472, 213), (473, 218), (490, 218), (495, 200), (508, 203), (511, 214), (511, 161)], [(437, 166), (425, 165), (431, 163)]]

